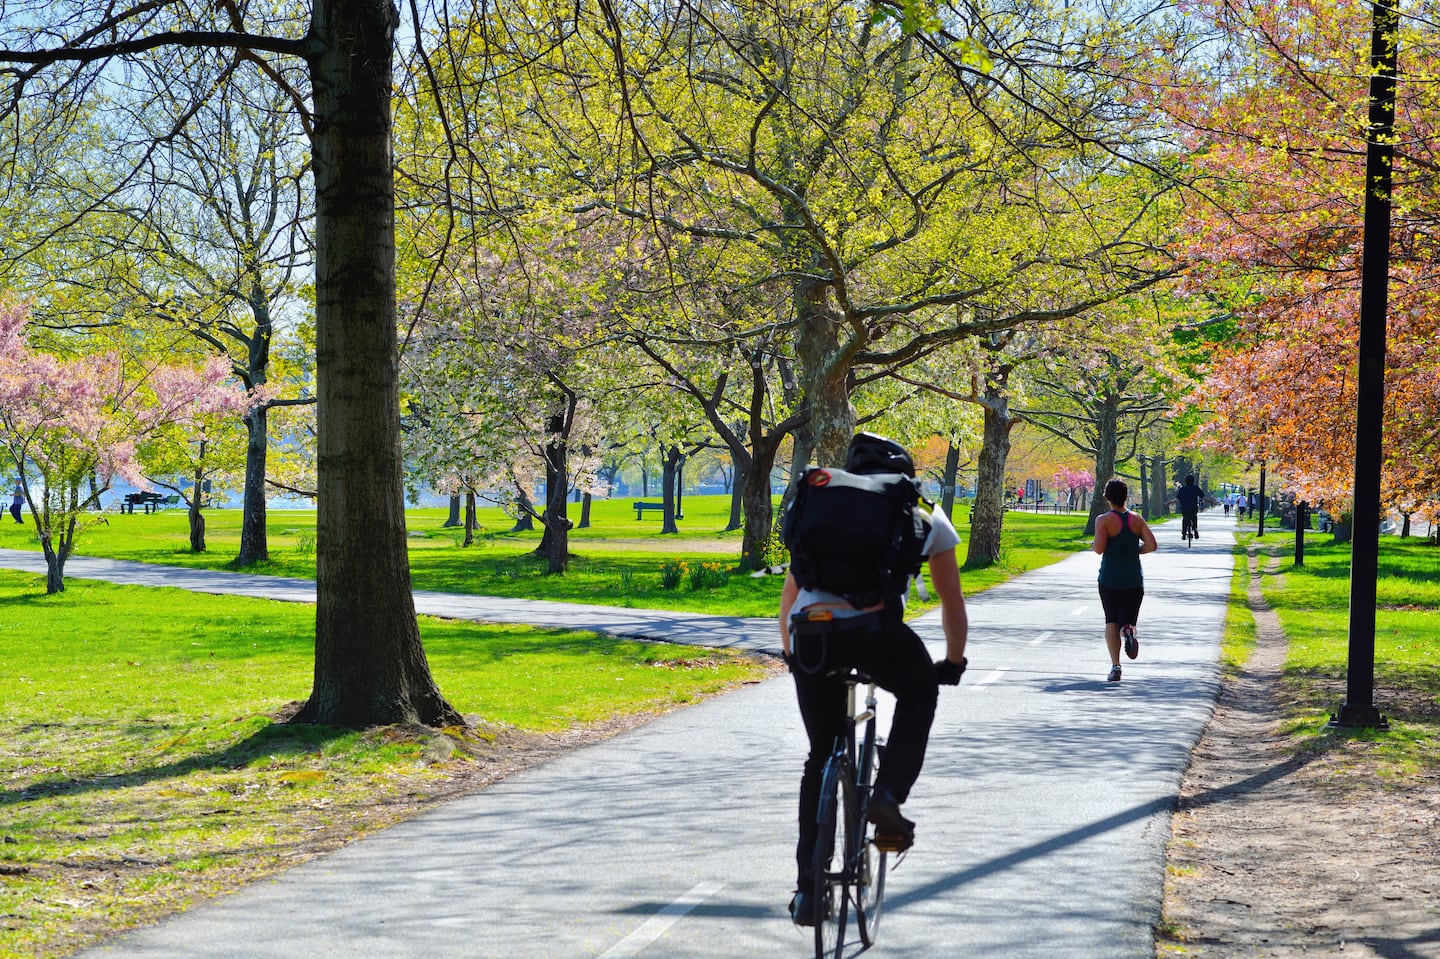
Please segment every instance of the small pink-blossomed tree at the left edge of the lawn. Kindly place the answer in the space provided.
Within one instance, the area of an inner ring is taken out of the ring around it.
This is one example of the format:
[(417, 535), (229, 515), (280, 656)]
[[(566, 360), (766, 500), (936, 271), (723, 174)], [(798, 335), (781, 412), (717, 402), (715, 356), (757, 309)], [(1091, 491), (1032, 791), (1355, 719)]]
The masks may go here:
[(48, 593), (65, 590), (65, 562), (114, 480), (148, 485), (137, 445), (181, 422), (228, 367), (137, 369), (115, 353), (65, 359), (33, 350), (27, 311), (0, 307), (0, 448), (20, 477), (45, 551)]

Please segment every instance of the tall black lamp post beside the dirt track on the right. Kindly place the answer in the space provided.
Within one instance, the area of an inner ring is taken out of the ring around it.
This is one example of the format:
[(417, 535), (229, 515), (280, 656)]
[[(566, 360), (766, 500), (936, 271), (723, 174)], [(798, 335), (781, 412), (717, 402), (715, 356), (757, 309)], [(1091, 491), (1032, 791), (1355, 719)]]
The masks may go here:
[(1385, 425), (1385, 312), (1390, 289), (1390, 193), (1395, 158), (1398, 0), (1374, 0), (1369, 40), (1369, 137), (1365, 144), (1365, 253), (1359, 282), (1355, 380), (1355, 511), (1351, 518), (1349, 664), (1345, 701), (1331, 726), (1384, 727), (1375, 708), (1375, 582), (1380, 573), (1381, 433)]

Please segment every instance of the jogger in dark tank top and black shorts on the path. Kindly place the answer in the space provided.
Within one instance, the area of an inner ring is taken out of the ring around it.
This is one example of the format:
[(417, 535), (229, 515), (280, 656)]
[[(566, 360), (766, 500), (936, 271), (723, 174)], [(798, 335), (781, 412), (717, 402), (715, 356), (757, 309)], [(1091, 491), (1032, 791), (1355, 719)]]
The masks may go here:
[(1145, 599), (1140, 556), (1158, 547), (1155, 534), (1139, 514), (1125, 508), (1130, 490), (1122, 480), (1104, 484), (1110, 511), (1094, 521), (1094, 549), (1100, 554), (1100, 606), (1104, 609), (1104, 645), (1110, 652), (1109, 683), (1120, 681), (1120, 644), (1132, 659), (1140, 655), (1135, 623)]

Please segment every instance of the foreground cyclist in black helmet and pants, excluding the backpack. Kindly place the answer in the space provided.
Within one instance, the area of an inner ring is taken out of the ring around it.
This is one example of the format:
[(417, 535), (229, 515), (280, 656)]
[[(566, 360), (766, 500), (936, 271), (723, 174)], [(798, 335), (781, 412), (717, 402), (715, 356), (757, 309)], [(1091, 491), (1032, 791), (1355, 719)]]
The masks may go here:
[[(913, 478), (914, 462), (900, 444), (873, 433), (858, 433), (850, 444), (845, 471), (870, 475), (901, 472)], [(837, 670), (864, 670), (877, 685), (896, 697), (890, 736), (876, 773), (868, 812), (870, 822), (876, 825), (877, 844), (894, 851), (903, 851), (914, 842), (914, 824), (900, 815), (900, 805), (909, 796), (924, 762), (939, 685), (958, 684), (965, 671), (969, 625), (955, 559), (960, 537), (945, 513), (927, 513), (920, 505), (914, 511), (926, 534), (920, 551), (929, 560), (930, 582), (942, 605), (945, 658), (939, 662), (930, 659), (924, 642), (900, 615), (909, 592), (909, 577), (900, 592), (887, 595), (877, 605), (857, 609), (837, 593), (802, 589), (793, 569), (785, 576), (779, 611), (780, 647), (795, 678), (795, 695), (809, 739), (809, 755), (801, 776), (796, 893), (791, 900), (791, 917), (799, 924), (814, 923), (811, 867), (818, 839), (815, 811), (825, 760), (845, 721), (845, 684)], [(845, 518), (838, 517), (835, 521), (845, 523)], [(883, 615), (886, 609), (891, 615)], [(802, 612), (806, 616), (792, 623), (792, 615)], [(816, 613), (824, 619), (816, 619)]]

